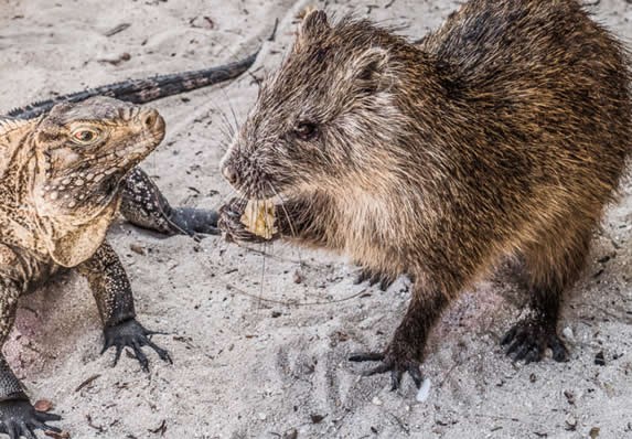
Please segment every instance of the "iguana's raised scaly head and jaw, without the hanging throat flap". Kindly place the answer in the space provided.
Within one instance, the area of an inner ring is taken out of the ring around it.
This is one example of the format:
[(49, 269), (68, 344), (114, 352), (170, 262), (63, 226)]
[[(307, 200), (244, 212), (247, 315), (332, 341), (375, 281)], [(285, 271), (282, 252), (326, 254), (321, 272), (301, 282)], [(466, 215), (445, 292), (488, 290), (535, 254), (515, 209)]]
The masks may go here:
[(60, 104), (33, 132), (38, 214), (85, 224), (118, 201), (119, 184), (164, 137), (158, 111), (108, 97)]

